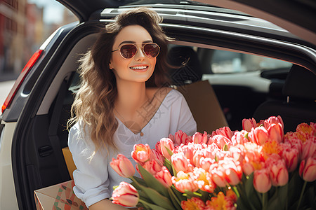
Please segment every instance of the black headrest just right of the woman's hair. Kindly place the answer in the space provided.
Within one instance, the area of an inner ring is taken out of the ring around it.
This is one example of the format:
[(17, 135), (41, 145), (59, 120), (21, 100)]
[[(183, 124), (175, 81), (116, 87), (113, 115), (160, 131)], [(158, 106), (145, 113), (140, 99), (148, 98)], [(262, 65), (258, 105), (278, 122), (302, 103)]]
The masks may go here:
[(176, 46), (168, 52), (168, 62), (172, 68), (169, 74), (173, 85), (194, 83), (202, 78), (202, 66), (193, 48)]

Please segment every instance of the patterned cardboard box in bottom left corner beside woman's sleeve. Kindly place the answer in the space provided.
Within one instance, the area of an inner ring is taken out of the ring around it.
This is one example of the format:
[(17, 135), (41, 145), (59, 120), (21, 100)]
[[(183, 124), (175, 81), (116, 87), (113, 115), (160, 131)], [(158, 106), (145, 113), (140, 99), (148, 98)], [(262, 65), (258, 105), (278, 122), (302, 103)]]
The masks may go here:
[(74, 181), (66, 181), (55, 186), (34, 190), (35, 204), (38, 210), (88, 210), (84, 202), (76, 195), (72, 188)]

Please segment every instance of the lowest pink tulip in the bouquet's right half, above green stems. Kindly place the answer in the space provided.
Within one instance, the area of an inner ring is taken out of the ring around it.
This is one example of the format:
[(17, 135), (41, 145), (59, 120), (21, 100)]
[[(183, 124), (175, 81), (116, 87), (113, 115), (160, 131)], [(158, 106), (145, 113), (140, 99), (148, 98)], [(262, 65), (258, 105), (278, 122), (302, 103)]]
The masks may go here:
[(254, 188), (259, 193), (267, 193), (271, 188), (271, 181), (268, 169), (254, 171)]

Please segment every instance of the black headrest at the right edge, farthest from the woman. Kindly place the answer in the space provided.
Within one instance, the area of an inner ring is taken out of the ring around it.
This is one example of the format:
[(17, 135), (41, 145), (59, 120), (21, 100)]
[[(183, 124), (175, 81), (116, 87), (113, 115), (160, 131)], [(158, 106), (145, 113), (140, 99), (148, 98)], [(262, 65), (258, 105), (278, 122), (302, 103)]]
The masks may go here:
[(282, 90), (290, 98), (316, 100), (316, 75), (294, 64), (289, 71)]

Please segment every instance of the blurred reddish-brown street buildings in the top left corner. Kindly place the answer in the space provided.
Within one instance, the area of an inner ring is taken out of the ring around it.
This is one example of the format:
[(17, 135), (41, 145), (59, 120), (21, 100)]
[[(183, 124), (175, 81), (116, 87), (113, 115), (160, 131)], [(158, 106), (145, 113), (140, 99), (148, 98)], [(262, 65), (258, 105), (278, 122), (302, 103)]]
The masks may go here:
[(5, 76), (16, 78), (55, 29), (77, 21), (69, 10), (64, 10), (60, 24), (45, 24), (43, 7), (27, 0), (0, 0), (0, 81), (6, 80)]

